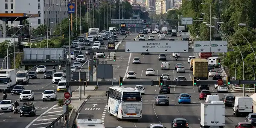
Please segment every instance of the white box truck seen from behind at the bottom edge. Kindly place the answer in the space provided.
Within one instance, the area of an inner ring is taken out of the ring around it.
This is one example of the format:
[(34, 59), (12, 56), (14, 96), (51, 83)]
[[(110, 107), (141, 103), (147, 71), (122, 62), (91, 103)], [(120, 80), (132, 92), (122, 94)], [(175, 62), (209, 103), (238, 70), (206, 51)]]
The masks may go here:
[(225, 105), (224, 104), (203, 104), (201, 103), (200, 128), (225, 126)]

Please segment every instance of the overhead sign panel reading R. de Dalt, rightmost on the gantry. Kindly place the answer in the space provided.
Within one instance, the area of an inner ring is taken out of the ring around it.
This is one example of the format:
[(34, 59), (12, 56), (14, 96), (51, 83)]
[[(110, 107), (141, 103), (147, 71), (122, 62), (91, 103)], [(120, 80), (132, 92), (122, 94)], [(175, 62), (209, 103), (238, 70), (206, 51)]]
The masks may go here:
[(227, 52), (227, 41), (212, 41), (211, 52)]

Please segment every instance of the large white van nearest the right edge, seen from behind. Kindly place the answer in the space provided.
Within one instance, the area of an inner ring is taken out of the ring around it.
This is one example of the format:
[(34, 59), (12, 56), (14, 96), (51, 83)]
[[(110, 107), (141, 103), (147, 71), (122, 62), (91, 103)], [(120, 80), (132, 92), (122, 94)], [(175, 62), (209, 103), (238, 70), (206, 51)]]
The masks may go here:
[(249, 113), (253, 113), (253, 99), (247, 96), (236, 96), (233, 114), (239, 116), (248, 115)]

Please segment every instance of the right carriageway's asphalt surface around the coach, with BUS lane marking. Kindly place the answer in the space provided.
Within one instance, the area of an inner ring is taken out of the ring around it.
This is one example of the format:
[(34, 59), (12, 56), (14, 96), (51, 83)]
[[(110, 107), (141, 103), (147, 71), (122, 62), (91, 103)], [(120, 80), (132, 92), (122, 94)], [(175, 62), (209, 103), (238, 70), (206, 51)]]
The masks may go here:
[[(148, 36), (149, 35), (146, 35), (146, 37)], [(136, 37), (137, 35), (131, 35), (131, 37), (126, 38), (125, 41), (132, 41)], [(158, 41), (157, 35), (155, 35), (155, 37)], [(169, 38), (170, 36), (167, 35), (166, 39)], [(175, 37), (175, 40), (179, 41), (180, 37)], [(125, 43), (122, 43), (119, 49), (125, 49)], [(194, 55), (198, 58), (198, 54), (181, 53), (181, 57), (175, 61), (175, 58), (172, 58), (172, 53), (167, 53), (167, 61), (170, 63), (170, 70), (161, 70), (162, 61), (158, 61), (158, 55), (159, 53), (151, 53), (150, 55), (141, 55), (140, 53), (116, 53), (116, 62), (111, 62), (114, 69), (113, 78), (118, 79), (119, 76), (121, 76), (123, 77), (124, 81), (157, 81), (159, 80), (159, 77), (162, 75), (162, 73), (169, 73), (171, 80), (175, 79), (177, 76), (185, 76), (188, 80), (192, 80), (192, 71), (189, 70), (187, 58), (191, 55)], [(134, 57), (141, 58), (142, 64), (132, 64), (132, 59)], [(176, 63), (184, 64), (186, 73), (176, 73), (174, 70)], [(147, 68), (153, 68), (155, 70), (155, 76), (145, 76), (145, 70)], [(126, 79), (125, 73), (128, 71), (136, 72), (137, 79)], [(209, 80), (211, 80), (211, 78), (209, 78)], [(108, 87), (110, 86), (100, 86), (98, 90), (106, 91), (108, 90)], [(122, 126), (123, 128), (146, 128), (151, 123), (163, 123), (165, 127), (170, 128), (170, 123), (173, 119), (186, 118), (191, 128), (200, 127), (200, 122), (198, 120), (198, 117), (200, 116), (200, 103), (203, 103), (204, 100), (198, 99), (198, 87), (193, 87), (192, 85), (170, 85), (171, 93), (166, 94), (169, 97), (169, 106), (154, 105), (154, 96), (159, 94), (158, 86), (145, 86), (145, 88), (145, 95), (143, 96), (143, 117), (139, 120), (139, 122), (132, 122), (127, 120), (117, 121), (115, 117), (110, 116), (107, 112), (107, 98), (104, 96), (104, 93), (98, 96), (91, 96), (82, 108), (78, 118), (102, 119), (106, 128), (116, 128), (117, 126)], [(217, 93), (217, 90), (213, 85), (210, 85), (210, 91), (212, 91), (213, 94), (218, 94), (221, 99), (224, 98), (225, 95), (236, 95), (236, 93)], [(178, 104), (177, 96), (179, 96), (180, 93), (189, 93), (192, 96), (192, 103), (190, 105)], [(244, 122), (244, 118), (234, 117), (233, 108), (227, 107), (226, 127), (233, 128), (233, 126), (238, 122)]]

